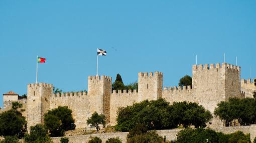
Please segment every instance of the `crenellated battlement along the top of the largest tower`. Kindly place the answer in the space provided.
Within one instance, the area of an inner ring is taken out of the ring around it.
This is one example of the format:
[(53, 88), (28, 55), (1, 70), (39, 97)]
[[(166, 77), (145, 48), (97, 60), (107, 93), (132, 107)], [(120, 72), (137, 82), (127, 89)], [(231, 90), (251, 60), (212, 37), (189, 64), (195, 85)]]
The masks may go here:
[(194, 64), (193, 65), (193, 71), (208, 71), (208, 70), (215, 70), (215, 71), (221, 71), (221, 70), (235, 70), (235, 71), (241, 71), (241, 67), (240, 66), (236, 66), (233, 64), (229, 64), (229, 63), (216, 63), (216, 65), (214, 63), (211, 63), (210, 66), (209, 64)]

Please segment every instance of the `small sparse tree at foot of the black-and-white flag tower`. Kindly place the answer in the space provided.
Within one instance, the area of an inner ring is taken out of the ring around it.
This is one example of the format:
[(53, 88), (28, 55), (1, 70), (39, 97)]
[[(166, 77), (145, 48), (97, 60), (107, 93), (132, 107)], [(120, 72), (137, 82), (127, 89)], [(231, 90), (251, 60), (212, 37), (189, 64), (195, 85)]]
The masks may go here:
[(105, 121), (105, 115), (104, 114), (98, 114), (96, 111), (87, 119), (87, 124), (90, 124), (91, 127), (95, 127), (97, 129), (97, 132), (99, 131), (100, 127), (99, 124), (102, 124), (103, 127), (106, 125)]

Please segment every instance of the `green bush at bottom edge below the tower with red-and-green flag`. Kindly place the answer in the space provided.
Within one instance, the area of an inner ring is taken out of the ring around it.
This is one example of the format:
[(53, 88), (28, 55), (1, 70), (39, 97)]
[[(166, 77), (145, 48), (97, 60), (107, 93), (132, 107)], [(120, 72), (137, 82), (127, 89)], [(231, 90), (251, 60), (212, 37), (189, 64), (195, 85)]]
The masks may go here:
[(47, 127), (42, 124), (36, 124), (30, 127), (30, 134), (25, 134), (24, 140), (28, 143), (53, 142), (47, 132)]

